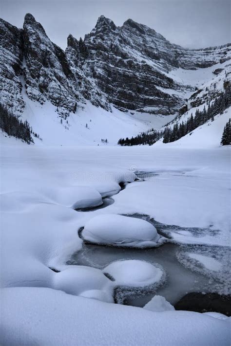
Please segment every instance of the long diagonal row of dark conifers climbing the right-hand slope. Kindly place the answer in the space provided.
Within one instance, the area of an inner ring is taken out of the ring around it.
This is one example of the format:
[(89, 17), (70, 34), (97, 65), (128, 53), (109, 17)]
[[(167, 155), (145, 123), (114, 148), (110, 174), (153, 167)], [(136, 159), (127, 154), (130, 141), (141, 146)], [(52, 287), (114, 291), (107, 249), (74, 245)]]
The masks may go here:
[(177, 141), (186, 134), (192, 132), (196, 127), (205, 124), (209, 120), (214, 120), (214, 116), (223, 113), (225, 109), (231, 106), (231, 85), (228, 85), (220, 96), (216, 97), (212, 104), (208, 104), (207, 109), (196, 109), (195, 115), (191, 116), (181, 123), (175, 123), (172, 127), (166, 126), (162, 131), (149, 130), (142, 132), (132, 138), (120, 138), (118, 144), (121, 146), (136, 146), (136, 145), (153, 145), (163, 137), (163, 143)]

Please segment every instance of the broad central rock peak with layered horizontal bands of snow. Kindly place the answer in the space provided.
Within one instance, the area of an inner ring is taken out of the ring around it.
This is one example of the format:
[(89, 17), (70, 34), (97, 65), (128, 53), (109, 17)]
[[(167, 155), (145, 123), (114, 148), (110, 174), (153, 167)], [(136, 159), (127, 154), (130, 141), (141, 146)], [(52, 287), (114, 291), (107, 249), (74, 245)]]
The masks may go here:
[(143, 28), (146, 27), (131, 19), (116, 27), (112, 20), (101, 16), (93, 31), (85, 36), (90, 55), (87, 68), (98, 88), (116, 107), (174, 113), (182, 101), (156, 86), (175, 90), (182, 90), (182, 86), (167, 76), (170, 65), (164, 60), (160, 62), (156, 49), (150, 47), (150, 41), (159, 34)]

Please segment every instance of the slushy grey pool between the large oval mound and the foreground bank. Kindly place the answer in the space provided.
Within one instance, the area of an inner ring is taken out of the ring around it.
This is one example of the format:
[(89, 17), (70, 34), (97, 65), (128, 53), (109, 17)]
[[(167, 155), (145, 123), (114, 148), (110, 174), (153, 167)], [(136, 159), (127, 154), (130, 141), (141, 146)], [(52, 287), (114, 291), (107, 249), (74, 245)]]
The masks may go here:
[[(180, 248), (183, 249), (184, 246), (170, 243), (152, 249), (125, 249), (84, 244), (82, 250), (73, 255), (69, 264), (85, 265), (99, 269), (103, 269), (111, 262), (121, 259), (138, 259), (160, 264), (167, 273), (164, 286), (157, 289), (156, 292), (128, 300), (127, 304), (142, 307), (154, 294), (162, 295), (174, 304), (188, 292), (212, 291), (212, 282), (207, 276), (192, 272), (178, 262), (176, 252), (180, 251)], [(214, 281), (213, 284), (215, 284)]]

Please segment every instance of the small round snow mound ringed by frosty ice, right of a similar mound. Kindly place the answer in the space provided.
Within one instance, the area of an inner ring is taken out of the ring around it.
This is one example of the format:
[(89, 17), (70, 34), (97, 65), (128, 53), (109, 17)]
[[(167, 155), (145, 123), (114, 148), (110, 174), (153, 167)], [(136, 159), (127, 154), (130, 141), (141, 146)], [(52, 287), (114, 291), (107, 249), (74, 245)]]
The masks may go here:
[(112, 262), (103, 271), (112, 275), (117, 285), (132, 287), (153, 285), (159, 282), (163, 276), (160, 268), (136, 259)]

